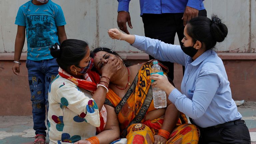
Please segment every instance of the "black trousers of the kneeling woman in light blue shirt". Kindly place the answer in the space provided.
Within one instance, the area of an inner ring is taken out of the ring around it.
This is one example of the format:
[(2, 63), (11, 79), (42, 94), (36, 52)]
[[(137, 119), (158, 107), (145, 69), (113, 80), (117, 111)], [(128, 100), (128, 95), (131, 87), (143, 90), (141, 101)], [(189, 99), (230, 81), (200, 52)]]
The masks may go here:
[(244, 123), (212, 130), (200, 128), (201, 136), (198, 144), (250, 144), (251, 138)]

